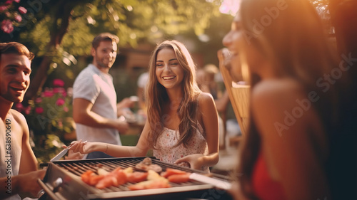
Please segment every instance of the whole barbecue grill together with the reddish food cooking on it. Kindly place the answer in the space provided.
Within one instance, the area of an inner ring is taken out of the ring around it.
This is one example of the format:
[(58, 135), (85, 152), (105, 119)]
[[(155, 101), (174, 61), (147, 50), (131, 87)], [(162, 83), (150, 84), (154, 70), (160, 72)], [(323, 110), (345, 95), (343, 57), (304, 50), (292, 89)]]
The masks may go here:
[[(187, 199), (188, 197), (208, 194), (212, 190), (218, 191), (215, 189), (216, 184), (200, 181), (197, 178), (188, 179), (191, 177), (191, 173), (196, 172), (195, 170), (179, 167), (177, 164), (161, 162), (158, 159), (152, 159), (151, 164), (159, 164), (163, 172), (156, 173), (149, 169), (143, 172), (135, 166), (139, 162), (143, 162), (144, 158), (128, 157), (50, 162), (44, 180), (39, 181), (39, 183), (42, 188), (48, 191), (46, 192), (47, 199), (119, 199), (122, 196), (127, 196), (125, 199), (136, 200), (146, 199), (146, 196), (150, 196), (149, 199), (156, 199), (157, 197), (156, 200), (166, 200)], [(145, 159), (144, 162), (150, 165), (150, 162), (146, 161), (150, 161), (150, 159)], [(151, 174), (149, 177), (148, 171)], [(121, 173), (119, 174), (119, 172)], [(228, 180), (228, 177), (218, 174), (212, 174), (212, 177)], [(137, 189), (144, 190), (140, 192), (130, 191)], [(56, 193), (53, 194), (51, 191)], [(219, 192), (221, 195), (221, 189)], [(58, 198), (52, 196), (58, 196)], [(222, 197), (221, 199), (225, 198)]]

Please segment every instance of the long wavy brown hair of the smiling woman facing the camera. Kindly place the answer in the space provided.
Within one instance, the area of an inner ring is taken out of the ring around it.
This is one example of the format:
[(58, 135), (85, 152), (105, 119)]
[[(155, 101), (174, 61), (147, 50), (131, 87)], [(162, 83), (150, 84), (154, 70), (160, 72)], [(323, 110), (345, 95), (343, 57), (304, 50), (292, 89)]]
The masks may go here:
[[(169, 102), (169, 96), (166, 93), (166, 88), (159, 83), (156, 78), (156, 58), (159, 51), (164, 48), (174, 50), (178, 63), (184, 71), (182, 80), (183, 98), (179, 102), (177, 114), (180, 121), (178, 130), (180, 138), (176, 146), (186, 143), (191, 139), (192, 133), (197, 131), (197, 97), (201, 93), (196, 83), (196, 65), (193, 63), (190, 53), (187, 48), (178, 41), (164, 41), (156, 46), (154, 53), (151, 56), (149, 63), (149, 81), (146, 85), (146, 106), (148, 108), (148, 120), (150, 132), (148, 139), (151, 148), (156, 147), (158, 137), (164, 129), (166, 116), (164, 115), (164, 105)], [(172, 103), (172, 102), (171, 102)]]

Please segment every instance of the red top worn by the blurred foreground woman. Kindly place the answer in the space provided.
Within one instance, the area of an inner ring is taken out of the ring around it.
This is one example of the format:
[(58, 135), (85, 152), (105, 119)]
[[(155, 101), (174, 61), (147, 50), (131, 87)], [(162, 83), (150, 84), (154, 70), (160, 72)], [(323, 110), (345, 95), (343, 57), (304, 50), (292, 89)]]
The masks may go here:
[(261, 200), (284, 200), (283, 186), (277, 181), (271, 179), (268, 174), (266, 162), (260, 153), (256, 159), (256, 166), (253, 169), (253, 190), (256, 196)]

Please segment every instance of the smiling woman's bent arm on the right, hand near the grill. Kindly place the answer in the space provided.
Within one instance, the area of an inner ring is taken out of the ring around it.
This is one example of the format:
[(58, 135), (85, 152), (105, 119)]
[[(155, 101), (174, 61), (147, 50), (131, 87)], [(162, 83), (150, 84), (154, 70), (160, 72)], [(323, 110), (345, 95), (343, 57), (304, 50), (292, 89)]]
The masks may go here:
[(198, 100), (198, 109), (202, 117), (203, 130), (206, 132), (206, 140), (208, 144), (208, 155), (191, 154), (181, 159), (177, 159), (175, 163), (189, 162), (191, 168), (202, 169), (202, 167), (211, 167), (218, 162), (218, 113), (212, 95), (201, 93)]

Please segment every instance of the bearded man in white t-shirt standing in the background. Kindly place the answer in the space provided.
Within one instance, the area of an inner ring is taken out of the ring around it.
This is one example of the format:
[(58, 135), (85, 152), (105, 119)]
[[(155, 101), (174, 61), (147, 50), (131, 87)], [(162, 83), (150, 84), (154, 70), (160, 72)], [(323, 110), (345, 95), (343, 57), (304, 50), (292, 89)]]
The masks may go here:
[[(127, 122), (118, 119), (116, 91), (109, 69), (117, 54), (119, 38), (101, 33), (92, 42), (93, 62), (77, 76), (73, 87), (73, 117), (77, 140), (106, 142), (121, 145), (119, 132), (129, 129)], [(90, 158), (104, 158), (104, 152), (92, 152)]]

